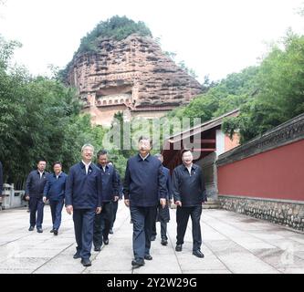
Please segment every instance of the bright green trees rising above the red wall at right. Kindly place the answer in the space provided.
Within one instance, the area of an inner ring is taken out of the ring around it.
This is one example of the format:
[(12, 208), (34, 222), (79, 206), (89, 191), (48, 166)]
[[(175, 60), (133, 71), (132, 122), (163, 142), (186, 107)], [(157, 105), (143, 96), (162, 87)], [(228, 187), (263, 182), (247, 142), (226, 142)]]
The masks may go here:
[(246, 142), (304, 112), (304, 36), (288, 31), (274, 45), (257, 74), (257, 94), (241, 107), (239, 117), (226, 120), (225, 129), (239, 130)]

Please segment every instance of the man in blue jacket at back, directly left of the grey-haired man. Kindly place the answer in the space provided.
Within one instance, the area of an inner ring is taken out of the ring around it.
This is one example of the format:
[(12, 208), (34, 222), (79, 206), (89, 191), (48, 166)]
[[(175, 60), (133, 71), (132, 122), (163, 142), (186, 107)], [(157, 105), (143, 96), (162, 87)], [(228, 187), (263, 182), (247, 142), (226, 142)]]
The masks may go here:
[(43, 202), (46, 203), (48, 200), (51, 209), (53, 228), (50, 232), (58, 235), (68, 175), (62, 172), (61, 162), (55, 162), (53, 164), (53, 170), (54, 173), (47, 175), (47, 183), (43, 192)]

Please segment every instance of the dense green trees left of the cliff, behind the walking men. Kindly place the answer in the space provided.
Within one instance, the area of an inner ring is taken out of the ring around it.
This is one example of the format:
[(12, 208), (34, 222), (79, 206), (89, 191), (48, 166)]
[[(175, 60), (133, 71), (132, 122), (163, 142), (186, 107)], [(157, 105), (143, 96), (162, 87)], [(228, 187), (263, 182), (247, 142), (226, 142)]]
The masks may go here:
[[(67, 171), (79, 161), (85, 142), (102, 147), (106, 130), (92, 127), (80, 114), (79, 95), (56, 78), (32, 78), (24, 68), (11, 67), (15, 42), (0, 43), (0, 160), (5, 180), (22, 187), (37, 159), (63, 162)], [(49, 169), (49, 166), (48, 166)]]

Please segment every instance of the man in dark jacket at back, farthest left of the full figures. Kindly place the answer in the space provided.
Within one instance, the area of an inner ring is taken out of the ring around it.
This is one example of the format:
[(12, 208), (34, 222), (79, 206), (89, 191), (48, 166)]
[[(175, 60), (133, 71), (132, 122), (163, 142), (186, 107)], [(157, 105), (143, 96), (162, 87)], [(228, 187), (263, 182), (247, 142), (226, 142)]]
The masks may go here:
[[(47, 162), (45, 160), (39, 160), (37, 164), (37, 170), (30, 172), (26, 179), (26, 200), (29, 201), (30, 219), (28, 231), (33, 231), (35, 225), (37, 225), (37, 232), (42, 233), (43, 223), (43, 209), (45, 203), (43, 203), (43, 190), (47, 183), (46, 172)], [(37, 214), (37, 218), (36, 218)]]

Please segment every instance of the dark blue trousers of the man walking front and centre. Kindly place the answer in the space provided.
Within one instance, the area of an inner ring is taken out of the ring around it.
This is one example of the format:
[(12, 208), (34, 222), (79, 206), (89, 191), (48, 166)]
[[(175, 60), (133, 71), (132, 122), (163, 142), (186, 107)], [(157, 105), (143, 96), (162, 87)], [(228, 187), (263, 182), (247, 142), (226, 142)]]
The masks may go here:
[(133, 223), (133, 253), (135, 259), (150, 255), (152, 224), (155, 220), (156, 206), (130, 206)]

